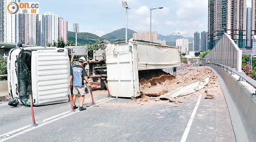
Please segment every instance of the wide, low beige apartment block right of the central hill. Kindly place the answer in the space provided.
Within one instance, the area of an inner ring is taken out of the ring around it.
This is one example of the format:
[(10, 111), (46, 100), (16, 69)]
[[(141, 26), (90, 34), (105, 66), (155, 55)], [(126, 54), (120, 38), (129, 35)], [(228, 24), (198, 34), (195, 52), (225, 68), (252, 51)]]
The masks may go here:
[[(150, 41), (150, 32), (134, 33), (133, 39)], [(157, 32), (151, 32), (151, 41), (153, 43), (158, 42), (158, 33)]]

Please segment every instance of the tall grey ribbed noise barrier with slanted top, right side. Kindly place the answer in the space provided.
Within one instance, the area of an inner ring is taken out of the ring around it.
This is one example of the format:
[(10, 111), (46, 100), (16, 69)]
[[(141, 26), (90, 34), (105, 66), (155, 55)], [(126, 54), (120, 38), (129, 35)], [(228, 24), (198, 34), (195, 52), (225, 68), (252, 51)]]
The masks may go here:
[(226, 33), (207, 55), (207, 61), (230, 66), (242, 72), (242, 51)]

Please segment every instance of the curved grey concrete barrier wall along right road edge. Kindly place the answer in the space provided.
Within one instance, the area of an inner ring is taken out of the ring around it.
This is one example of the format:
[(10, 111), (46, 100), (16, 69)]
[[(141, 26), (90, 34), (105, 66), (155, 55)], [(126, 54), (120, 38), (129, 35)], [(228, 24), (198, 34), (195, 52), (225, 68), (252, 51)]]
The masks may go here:
[[(237, 141), (256, 140), (256, 96), (253, 86), (245, 81), (238, 81), (239, 76), (230, 74), (220, 66), (207, 64), (222, 77), (225, 99)], [(220, 80), (220, 78), (219, 78)], [(220, 82), (221, 83), (221, 82)], [(227, 93), (225, 93), (225, 88)]]

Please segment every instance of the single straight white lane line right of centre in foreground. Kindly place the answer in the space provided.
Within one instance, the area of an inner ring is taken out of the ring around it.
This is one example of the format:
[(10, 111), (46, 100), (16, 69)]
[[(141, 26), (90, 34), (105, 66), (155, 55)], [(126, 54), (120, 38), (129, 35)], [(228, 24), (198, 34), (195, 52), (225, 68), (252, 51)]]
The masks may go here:
[(188, 124), (187, 124), (187, 127), (185, 128), (185, 131), (183, 133), (183, 136), (180, 140), (180, 142), (185, 142), (187, 140), (187, 137), (188, 137), (188, 133), (189, 133), (189, 130), (191, 128), (191, 125), (192, 125), (192, 122), (193, 122), (193, 119), (195, 118), (195, 115), (196, 115), (196, 111), (197, 111), (197, 108), (199, 107), (199, 103), (201, 101), (201, 97), (202, 97), (202, 94), (199, 95), (198, 99), (197, 99), (197, 102), (196, 102), (196, 106), (189, 118), (189, 121), (188, 121)]

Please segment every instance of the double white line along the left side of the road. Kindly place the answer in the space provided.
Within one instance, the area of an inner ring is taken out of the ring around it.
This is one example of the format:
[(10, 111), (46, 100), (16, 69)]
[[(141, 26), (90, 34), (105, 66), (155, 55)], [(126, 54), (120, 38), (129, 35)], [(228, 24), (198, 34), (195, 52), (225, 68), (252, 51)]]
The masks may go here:
[[(100, 99), (100, 100), (96, 103), (96, 105), (99, 105), (99, 104), (104, 103), (104, 102), (108, 102), (108, 101), (110, 101), (111, 99), (114, 99), (114, 98), (104, 98), (104, 99)], [(90, 106), (90, 107), (92, 107), (92, 106)], [(28, 126), (24, 126), (24, 127), (19, 128), (19, 129), (17, 129), (17, 130), (4, 133), (3, 135), (0, 135), (0, 141), (5, 141), (5, 140), (11, 139), (11, 138), (13, 138), (13, 137), (15, 137), (15, 136), (18, 136), (18, 135), (21, 135), (21, 134), (23, 134), (23, 133), (26, 133), (26, 132), (28, 132), (28, 131), (35, 130), (36, 128), (45, 126), (46, 124), (55, 122), (56, 120), (65, 118), (65, 117), (67, 117), (67, 116), (69, 116), (69, 115), (72, 115), (72, 114), (76, 114), (77, 112), (80, 112), (80, 111), (79, 111), (79, 110), (76, 110), (76, 111), (66, 111), (66, 112), (63, 112), (63, 113), (61, 113), (61, 114), (52, 116), (51, 118), (44, 119), (42, 122), (39, 122), (39, 123), (38, 123), (38, 126), (36, 126), (36, 127), (32, 127), (32, 125), (30, 124), (30, 125), (28, 125)], [(3, 137), (3, 138), (2, 138), (2, 137)], [(1, 139), (1, 138), (2, 138), (2, 139)]]

